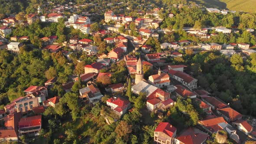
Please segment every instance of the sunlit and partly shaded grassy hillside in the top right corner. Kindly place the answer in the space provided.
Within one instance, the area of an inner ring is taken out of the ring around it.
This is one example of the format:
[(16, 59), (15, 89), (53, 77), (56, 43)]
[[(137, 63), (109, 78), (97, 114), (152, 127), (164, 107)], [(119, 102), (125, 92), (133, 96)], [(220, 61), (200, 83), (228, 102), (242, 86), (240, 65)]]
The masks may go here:
[[(196, 0), (206, 7), (256, 13), (256, 0)], [(204, 3), (202, 3), (203, 1)]]

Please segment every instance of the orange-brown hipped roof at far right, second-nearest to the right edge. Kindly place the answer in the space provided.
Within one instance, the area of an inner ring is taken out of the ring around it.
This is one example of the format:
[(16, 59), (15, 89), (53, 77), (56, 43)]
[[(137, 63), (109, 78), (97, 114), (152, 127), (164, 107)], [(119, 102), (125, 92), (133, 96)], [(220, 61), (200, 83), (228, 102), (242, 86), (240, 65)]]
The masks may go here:
[(231, 121), (236, 121), (243, 117), (239, 112), (235, 111), (233, 108), (222, 108), (219, 109), (220, 113), (228, 117)]

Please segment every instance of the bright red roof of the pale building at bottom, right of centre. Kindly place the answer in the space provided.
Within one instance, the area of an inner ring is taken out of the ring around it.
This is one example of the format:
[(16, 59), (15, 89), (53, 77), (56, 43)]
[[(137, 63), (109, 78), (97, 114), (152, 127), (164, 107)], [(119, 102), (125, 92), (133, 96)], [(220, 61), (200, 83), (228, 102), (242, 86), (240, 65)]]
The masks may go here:
[(169, 137), (173, 137), (175, 131), (177, 131), (177, 128), (175, 128), (168, 122), (160, 122), (158, 124), (158, 127), (154, 131), (163, 132), (164, 134), (167, 134)]

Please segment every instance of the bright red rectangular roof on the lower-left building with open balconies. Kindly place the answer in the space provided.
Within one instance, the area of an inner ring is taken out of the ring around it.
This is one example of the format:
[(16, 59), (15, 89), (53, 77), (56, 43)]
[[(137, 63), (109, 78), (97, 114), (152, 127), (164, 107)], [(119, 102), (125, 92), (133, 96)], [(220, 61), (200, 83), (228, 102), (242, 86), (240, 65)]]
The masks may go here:
[(42, 122), (42, 115), (21, 118), (19, 122), (19, 128), (41, 125), (41, 122)]

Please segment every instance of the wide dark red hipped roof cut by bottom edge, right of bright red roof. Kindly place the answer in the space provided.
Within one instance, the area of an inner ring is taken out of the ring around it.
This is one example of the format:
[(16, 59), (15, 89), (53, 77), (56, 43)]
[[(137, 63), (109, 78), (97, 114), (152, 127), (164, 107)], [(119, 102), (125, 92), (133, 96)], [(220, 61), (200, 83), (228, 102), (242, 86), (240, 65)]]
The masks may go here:
[(195, 128), (187, 128), (180, 136), (176, 137), (177, 140), (184, 144), (202, 144), (207, 140), (209, 135)]

